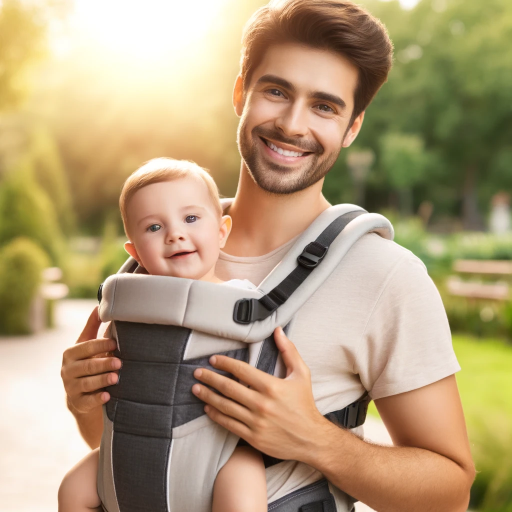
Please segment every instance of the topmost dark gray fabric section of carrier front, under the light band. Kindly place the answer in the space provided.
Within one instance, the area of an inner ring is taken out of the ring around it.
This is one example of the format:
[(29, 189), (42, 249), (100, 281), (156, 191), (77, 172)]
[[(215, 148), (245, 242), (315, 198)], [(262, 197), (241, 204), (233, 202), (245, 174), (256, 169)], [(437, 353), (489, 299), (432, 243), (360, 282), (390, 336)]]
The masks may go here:
[(114, 322), (123, 361), (179, 362), (190, 329), (173, 325)]

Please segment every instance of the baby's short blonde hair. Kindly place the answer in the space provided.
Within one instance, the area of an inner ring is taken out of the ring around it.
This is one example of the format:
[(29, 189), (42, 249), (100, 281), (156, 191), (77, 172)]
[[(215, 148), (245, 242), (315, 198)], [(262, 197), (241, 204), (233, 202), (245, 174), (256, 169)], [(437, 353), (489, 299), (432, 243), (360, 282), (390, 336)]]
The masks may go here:
[(175, 160), (174, 158), (153, 158), (139, 167), (131, 174), (123, 184), (121, 196), (119, 197), (119, 209), (123, 220), (124, 231), (128, 231), (127, 211), (128, 204), (137, 190), (153, 183), (162, 183), (164, 181), (173, 181), (180, 178), (193, 178), (206, 185), (208, 195), (219, 218), (222, 217), (222, 206), (219, 199), (219, 189), (214, 179), (209, 175), (206, 169), (203, 169), (195, 162), (187, 160)]

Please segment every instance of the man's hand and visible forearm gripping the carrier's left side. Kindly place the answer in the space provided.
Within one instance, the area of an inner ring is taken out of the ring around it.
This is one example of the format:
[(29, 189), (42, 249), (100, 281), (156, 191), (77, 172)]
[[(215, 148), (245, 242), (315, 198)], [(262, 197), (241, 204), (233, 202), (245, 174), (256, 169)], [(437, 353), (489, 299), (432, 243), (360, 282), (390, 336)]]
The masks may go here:
[(103, 432), (101, 406), (110, 399), (103, 388), (117, 382), (115, 371), (121, 368), (117, 357), (100, 357), (116, 349), (115, 340), (96, 337), (100, 325), (96, 307), (76, 344), (62, 355), (60, 371), (68, 409), (75, 416), (83, 439), (93, 449), (99, 446)]

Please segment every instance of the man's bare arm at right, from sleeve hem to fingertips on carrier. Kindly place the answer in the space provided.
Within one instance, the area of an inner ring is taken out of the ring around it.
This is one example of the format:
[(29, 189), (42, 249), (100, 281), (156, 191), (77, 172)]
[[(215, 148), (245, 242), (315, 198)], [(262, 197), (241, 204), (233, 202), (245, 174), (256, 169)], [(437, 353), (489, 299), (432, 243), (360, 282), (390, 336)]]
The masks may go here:
[[(193, 392), (208, 416), (273, 457), (315, 467), (347, 494), (379, 512), (458, 512), (467, 507), (475, 476), (454, 376), (377, 400), (397, 446), (359, 439), (316, 409), (309, 369), (286, 336), (276, 344), (287, 366), (278, 379), (243, 361), (213, 356), (210, 363), (250, 388), (206, 369)], [(229, 397), (231, 399), (228, 399)]]

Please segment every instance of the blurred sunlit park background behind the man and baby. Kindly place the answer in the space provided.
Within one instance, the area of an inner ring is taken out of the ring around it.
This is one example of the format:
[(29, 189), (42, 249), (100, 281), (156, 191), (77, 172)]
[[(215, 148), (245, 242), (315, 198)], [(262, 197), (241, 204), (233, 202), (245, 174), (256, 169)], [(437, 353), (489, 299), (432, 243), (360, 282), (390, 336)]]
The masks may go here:
[[(234, 194), (231, 90), (242, 26), (264, 3), (0, 0), (3, 406), (27, 407), (35, 393), (16, 385), (19, 374), (7, 378), (8, 367), (23, 374), (48, 362), (58, 374), (60, 361), (41, 355), (56, 317), (71, 328), (72, 305), (92, 308), (83, 300), (124, 261), (118, 197), (138, 165), (191, 159), (211, 170), (224, 196)], [(396, 241), (428, 268), (462, 366), (478, 470), (470, 506), (512, 511), (512, 2), (364, 5), (387, 25), (395, 65), (324, 192), (331, 203), (388, 216)], [(480, 265), (464, 272), (460, 260)], [(505, 263), (485, 270), (495, 260)], [(37, 411), (28, 420), (35, 458), (48, 444), (38, 421), (57, 428), (67, 414)], [(0, 434), (7, 416), (0, 413)], [(0, 453), (2, 478), (11, 472), (12, 488), (22, 488), (11, 462)]]

